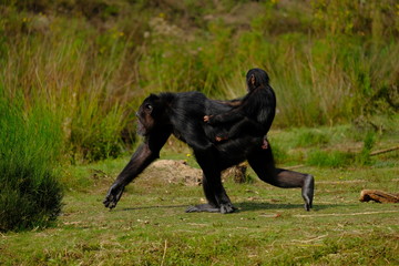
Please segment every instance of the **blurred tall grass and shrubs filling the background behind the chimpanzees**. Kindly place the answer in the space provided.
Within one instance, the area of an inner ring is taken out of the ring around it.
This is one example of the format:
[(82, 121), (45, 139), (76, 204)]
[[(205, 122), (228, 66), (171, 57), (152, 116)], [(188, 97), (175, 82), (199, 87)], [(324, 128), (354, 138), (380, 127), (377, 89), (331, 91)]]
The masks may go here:
[(273, 129), (378, 129), (399, 110), (398, 18), (395, 0), (0, 0), (0, 168), (32, 162), (38, 187), (54, 161), (116, 157), (149, 93), (233, 99), (252, 68), (277, 94)]

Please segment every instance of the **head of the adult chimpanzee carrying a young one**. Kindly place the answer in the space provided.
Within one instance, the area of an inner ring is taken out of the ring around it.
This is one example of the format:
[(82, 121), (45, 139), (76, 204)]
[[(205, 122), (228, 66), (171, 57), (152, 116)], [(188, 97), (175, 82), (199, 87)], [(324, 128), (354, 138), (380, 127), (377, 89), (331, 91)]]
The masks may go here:
[(155, 127), (162, 127), (167, 123), (165, 102), (155, 94), (150, 94), (136, 112), (140, 135), (149, 135)]

